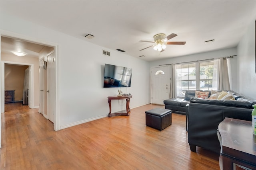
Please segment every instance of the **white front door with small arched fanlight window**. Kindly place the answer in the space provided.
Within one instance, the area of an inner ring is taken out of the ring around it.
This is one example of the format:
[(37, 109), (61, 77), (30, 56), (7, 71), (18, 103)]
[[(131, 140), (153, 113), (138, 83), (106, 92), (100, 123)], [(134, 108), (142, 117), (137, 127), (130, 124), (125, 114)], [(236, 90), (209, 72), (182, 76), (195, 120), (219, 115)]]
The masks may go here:
[(164, 104), (168, 99), (168, 66), (152, 68), (152, 103)]

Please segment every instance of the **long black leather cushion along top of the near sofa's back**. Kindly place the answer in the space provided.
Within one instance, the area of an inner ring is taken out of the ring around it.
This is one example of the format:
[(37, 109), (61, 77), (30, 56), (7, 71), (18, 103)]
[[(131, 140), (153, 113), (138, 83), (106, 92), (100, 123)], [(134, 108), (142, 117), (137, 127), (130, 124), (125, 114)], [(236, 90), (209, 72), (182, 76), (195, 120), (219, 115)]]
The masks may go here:
[[(244, 107), (251, 109), (252, 104), (248, 101), (237, 101), (237, 100), (205, 100), (200, 98), (191, 98), (190, 103), (200, 103), (200, 104), (209, 104), (209, 105), (218, 105), (218, 106), (233, 106), (233, 107)], [(216, 107), (218, 107), (216, 106)]]

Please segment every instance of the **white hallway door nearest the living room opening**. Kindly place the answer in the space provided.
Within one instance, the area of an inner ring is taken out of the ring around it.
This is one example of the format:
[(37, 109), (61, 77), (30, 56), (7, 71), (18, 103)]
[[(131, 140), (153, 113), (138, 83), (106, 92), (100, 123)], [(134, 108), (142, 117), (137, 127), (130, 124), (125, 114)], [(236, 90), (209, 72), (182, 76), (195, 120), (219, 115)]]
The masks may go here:
[(55, 80), (55, 66), (54, 66), (53, 51), (48, 54), (47, 62), (47, 106), (48, 119), (54, 123), (55, 107), (56, 107), (56, 80)]

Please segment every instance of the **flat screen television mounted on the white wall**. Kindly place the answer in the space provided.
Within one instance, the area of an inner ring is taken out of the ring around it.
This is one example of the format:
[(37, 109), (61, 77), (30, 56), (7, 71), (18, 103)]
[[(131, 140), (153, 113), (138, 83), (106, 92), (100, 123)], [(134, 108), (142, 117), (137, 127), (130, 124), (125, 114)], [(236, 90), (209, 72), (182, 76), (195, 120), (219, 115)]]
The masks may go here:
[(105, 64), (104, 88), (130, 87), (132, 80), (132, 68)]

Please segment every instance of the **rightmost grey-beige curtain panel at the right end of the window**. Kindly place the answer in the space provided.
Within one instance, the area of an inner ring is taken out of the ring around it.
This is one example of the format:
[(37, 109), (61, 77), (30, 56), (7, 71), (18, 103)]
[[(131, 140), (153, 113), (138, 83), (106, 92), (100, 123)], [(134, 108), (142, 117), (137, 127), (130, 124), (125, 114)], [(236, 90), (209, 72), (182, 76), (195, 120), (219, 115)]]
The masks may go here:
[(230, 80), (229, 80), (229, 76), (228, 76), (227, 59), (221, 57), (219, 60), (220, 60), (220, 64), (219, 64), (218, 90), (230, 90)]

